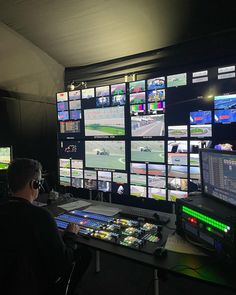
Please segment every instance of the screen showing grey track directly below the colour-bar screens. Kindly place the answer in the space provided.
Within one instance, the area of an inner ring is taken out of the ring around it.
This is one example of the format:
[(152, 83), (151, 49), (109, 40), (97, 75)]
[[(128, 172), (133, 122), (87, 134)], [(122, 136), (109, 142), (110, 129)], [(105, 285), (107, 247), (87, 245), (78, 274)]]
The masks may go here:
[(147, 115), (131, 117), (132, 136), (164, 136), (165, 115)]

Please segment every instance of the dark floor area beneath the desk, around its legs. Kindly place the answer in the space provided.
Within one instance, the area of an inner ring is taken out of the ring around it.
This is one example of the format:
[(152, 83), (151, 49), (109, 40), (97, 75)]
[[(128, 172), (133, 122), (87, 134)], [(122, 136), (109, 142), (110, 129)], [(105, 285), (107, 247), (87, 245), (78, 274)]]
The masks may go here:
[[(95, 272), (95, 253), (92, 263), (77, 286), (76, 295), (154, 295), (153, 270), (145, 265), (114, 255), (101, 253), (101, 271)], [(199, 281), (170, 274), (162, 274), (159, 295), (235, 295), (226, 290)]]

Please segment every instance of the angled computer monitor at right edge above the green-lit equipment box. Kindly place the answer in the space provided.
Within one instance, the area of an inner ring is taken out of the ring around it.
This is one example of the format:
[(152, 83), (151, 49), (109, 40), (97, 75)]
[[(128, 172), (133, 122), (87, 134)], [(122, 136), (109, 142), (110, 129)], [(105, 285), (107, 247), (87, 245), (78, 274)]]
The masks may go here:
[(202, 192), (236, 206), (236, 151), (200, 149)]

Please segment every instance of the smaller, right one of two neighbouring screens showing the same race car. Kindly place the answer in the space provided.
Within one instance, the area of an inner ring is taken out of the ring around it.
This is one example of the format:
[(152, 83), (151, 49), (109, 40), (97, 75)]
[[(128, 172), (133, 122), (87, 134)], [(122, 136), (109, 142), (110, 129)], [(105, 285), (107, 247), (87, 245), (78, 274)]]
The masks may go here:
[(131, 161), (164, 163), (164, 141), (131, 141)]

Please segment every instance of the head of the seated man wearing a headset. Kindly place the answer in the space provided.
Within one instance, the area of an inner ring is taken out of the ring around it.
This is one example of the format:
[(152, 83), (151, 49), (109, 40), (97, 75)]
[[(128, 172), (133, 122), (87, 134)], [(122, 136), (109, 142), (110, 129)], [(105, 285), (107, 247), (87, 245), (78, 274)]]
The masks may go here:
[(32, 159), (19, 158), (8, 167), (8, 184), (13, 195), (33, 201), (37, 198), (42, 165)]

